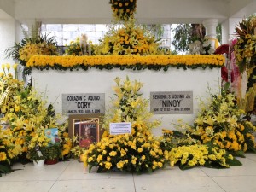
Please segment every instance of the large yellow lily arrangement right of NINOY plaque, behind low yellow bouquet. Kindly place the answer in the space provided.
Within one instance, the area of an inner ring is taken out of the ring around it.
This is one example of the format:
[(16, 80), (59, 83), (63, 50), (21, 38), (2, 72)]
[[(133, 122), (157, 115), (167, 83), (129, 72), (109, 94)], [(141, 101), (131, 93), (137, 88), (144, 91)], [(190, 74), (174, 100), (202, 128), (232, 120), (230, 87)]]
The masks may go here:
[(201, 113), (196, 117), (194, 126), (178, 125), (184, 128), (183, 131), (172, 131), (172, 135), (165, 131), (162, 149), (212, 143), (238, 156), (243, 156), (247, 150), (256, 152), (253, 137), (256, 127), (241, 118), (245, 113), (237, 108), (235, 102), (235, 96), (224, 91), (220, 95), (212, 95), (209, 103), (201, 102)]

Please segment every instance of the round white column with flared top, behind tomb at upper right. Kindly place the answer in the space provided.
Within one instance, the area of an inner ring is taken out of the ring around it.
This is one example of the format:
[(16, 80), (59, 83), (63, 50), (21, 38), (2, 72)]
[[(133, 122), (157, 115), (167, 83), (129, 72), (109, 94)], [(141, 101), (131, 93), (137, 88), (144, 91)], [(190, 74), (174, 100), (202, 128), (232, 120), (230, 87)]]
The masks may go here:
[(216, 49), (218, 47), (218, 40), (216, 34), (216, 27), (218, 26), (217, 19), (208, 19), (204, 20), (202, 24), (206, 28), (206, 38), (208, 38), (209, 43), (212, 45), (212, 49)]

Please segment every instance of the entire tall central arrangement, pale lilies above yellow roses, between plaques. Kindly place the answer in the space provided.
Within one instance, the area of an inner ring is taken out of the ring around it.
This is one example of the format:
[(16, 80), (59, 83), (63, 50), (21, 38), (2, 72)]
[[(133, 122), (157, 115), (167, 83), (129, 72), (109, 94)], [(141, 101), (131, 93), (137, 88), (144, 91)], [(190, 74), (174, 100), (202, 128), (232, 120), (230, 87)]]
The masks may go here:
[[(160, 142), (150, 129), (160, 125), (150, 122), (147, 112), (148, 101), (139, 93), (143, 84), (131, 82), (127, 77), (123, 82), (115, 79), (113, 87), (117, 99), (113, 108), (105, 115), (103, 127), (106, 134), (99, 143), (91, 144), (84, 152), (84, 166), (98, 167), (98, 172), (118, 169), (124, 172), (153, 172), (165, 164)], [(109, 135), (110, 122), (131, 122), (131, 134)]]

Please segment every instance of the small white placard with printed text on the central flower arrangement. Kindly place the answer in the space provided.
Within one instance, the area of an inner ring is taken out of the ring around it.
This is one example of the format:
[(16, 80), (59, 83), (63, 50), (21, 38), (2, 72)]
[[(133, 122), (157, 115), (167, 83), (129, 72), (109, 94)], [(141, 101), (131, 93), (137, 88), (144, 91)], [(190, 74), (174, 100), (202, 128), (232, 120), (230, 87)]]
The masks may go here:
[(131, 134), (131, 122), (110, 123), (110, 135)]

